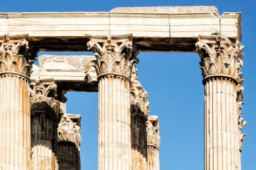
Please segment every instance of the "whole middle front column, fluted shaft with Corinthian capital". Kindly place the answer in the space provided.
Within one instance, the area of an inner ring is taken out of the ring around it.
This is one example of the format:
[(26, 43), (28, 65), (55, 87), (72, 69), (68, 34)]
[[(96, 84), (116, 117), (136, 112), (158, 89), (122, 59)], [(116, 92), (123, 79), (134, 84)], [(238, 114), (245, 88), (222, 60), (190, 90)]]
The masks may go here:
[(99, 81), (98, 169), (130, 170), (130, 78), (136, 62), (132, 35), (87, 36)]

